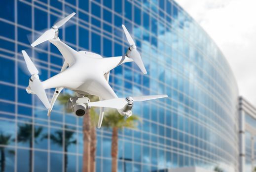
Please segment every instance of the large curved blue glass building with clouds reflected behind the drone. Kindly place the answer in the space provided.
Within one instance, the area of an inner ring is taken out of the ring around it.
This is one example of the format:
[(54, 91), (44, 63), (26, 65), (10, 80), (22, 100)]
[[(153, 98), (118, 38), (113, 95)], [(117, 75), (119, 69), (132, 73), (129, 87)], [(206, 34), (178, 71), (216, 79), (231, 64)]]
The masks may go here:
[[(138, 129), (119, 132), (118, 171), (157, 172), (180, 167), (238, 172), (238, 89), (217, 45), (173, 0), (0, 0), (0, 151), (5, 172), (80, 172), (82, 118), (55, 106), (51, 117), (27, 94), (21, 50), (40, 68), (40, 79), (57, 74), (63, 57), (44, 43), (42, 29), (76, 12), (60, 29), (75, 50), (103, 57), (123, 55), (133, 34), (148, 72), (134, 63), (110, 73), (119, 97), (168, 94), (137, 103)], [(86, 64), (85, 64), (86, 67)], [(47, 90), (49, 98), (53, 90)], [(56, 139), (50, 139), (50, 135)], [(75, 141), (72, 144), (67, 143)], [(57, 137), (58, 136), (58, 137)], [(65, 140), (66, 139), (66, 140)], [(96, 171), (111, 170), (111, 130), (97, 130)]]

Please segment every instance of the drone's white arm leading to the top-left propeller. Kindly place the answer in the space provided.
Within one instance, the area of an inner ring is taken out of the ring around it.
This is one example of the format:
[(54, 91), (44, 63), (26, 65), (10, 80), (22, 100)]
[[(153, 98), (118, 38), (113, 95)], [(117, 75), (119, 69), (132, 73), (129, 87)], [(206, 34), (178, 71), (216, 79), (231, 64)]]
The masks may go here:
[(69, 65), (73, 65), (75, 58), (77, 57), (77, 51), (72, 49), (70, 46), (62, 42), (59, 38), (49, 40), (50, 43), (55, 45), (58, 50), (61, 52), (62, 56), (65, 58), (65, 61), (69, 63)]

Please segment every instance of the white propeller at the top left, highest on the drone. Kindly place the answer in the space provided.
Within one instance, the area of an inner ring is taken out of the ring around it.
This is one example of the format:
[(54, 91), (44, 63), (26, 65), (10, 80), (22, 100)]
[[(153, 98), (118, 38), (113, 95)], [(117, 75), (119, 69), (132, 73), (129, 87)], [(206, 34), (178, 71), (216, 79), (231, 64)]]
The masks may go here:
[(33, 42), (31, 44), (32, 47), (37, 46), (38, 44), (50, 40), (50, 39), (54, 39), (55, 38), (55, 33), (58, 32), (58, 29), (64, 25), (66, 22), (68, 22), (73, 16), (75, 15), (75, 13), (71, 13), (70, 15), (68, 15), (67, 17), (65, 17), (64, 19), (60, 20), (59, 22), (55, 23), (55, 25), (53, 25), (53, 27), (47, 31), (45, 31), (39, 38), (37, 38), (37, 40), (35, 42)]

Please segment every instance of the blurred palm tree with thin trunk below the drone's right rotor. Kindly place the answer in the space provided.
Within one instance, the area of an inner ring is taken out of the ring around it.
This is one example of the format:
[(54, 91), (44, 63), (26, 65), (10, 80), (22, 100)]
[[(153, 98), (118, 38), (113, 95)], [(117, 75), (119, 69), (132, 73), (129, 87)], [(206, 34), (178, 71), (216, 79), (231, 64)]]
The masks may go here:
[(120, 115), (116, 110), (107, 112), (103, 119), (102, 126), (112, 128), (111, 157), (112, 172), (117, 171), (117, 155), (118, 155), (118, 130), (126, 128), (136, 128), (140, 118), (132, 115), (128, 118)]

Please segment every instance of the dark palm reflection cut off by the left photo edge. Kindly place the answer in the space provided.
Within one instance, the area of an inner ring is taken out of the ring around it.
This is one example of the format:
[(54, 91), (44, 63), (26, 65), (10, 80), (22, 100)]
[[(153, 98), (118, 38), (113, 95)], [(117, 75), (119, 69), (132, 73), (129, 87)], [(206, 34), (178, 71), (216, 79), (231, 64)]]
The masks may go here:
[[(7, 134), (4, 135), (2, 132), (0, 133), (0, 144), (2, 145), (8, 145), (10, 144), (10, 140), (11, 140), (11, 135)], [(0, 147), (0, 152), (1, 152), (1, 172), (4, 172), (5, 170), (5, 153), (4, 153), (4, 149), (5, 147)]]

